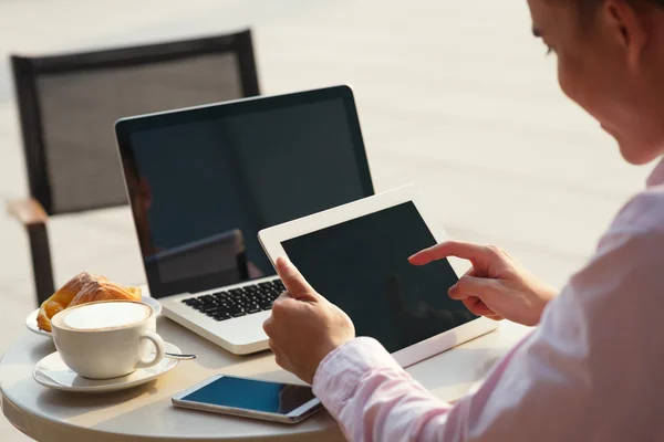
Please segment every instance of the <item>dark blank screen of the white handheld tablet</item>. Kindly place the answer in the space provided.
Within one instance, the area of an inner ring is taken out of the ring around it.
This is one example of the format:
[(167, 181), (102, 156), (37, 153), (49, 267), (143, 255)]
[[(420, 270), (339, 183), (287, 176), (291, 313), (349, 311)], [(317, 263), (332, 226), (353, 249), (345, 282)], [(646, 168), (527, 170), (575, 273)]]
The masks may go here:
[(307, 281), (351, 317), (357, 336), (395, 352), (477, 317), (447, 295), (458, 281), (447, 260), (408, 262), (435, 243), (406, 202), (281, 245)]

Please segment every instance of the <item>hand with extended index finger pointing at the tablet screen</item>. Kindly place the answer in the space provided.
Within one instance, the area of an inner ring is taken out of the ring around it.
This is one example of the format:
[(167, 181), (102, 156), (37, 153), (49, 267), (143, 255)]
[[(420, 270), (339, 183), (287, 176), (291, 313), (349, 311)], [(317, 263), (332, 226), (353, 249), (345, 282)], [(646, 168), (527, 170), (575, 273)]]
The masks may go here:
[(456, 256), (473, 263), (449, 297), (460, 299), (478, 316), (537, 325), (549, 301), (558, 293), (496, 246), (448, 241), (411, 256), (414, 265)]

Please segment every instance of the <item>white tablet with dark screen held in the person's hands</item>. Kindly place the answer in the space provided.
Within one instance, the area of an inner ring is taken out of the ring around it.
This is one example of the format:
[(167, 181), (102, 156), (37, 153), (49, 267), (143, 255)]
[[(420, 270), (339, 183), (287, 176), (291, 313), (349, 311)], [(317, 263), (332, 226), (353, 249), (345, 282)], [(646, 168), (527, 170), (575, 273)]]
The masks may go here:
[(357, 336), (377, 339), (407, 367), (498, 327), (449, 298), (458, 276), (447, 260), (408, 262), (447, 240), (422, 209), (408, 186), (262, 230), (259, 241), (272, 264), (288, 256)]

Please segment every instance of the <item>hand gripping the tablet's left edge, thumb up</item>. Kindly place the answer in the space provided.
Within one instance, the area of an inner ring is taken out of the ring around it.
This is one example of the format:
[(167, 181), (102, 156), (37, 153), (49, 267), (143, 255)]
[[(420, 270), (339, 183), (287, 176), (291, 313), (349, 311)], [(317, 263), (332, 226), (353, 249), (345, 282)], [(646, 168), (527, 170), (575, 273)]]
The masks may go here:
[(277, 364), (305, 382), (321, 360), (355, 337), (351, 318), (319, 295), (286, 257), (277, 260), (277, 273), (287, 292), (272, 305), (263, 324)]

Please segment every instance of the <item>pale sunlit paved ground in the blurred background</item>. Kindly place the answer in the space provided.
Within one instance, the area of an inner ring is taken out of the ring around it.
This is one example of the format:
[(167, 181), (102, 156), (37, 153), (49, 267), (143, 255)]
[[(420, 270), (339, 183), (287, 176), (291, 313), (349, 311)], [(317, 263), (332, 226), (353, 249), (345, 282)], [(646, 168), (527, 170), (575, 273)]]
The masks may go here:
[[(25, 194), (7, 55), (255, 30), (266, 93), (354, 86), (377, 190), (415, 182), (453, 238), (561, 286), (643, 185), (556, 84), (522, 0), (0, 0), (0, 200)], [(61, 217), (62, 283), (143, 281), (127, 210)], [(0, 211), (0, 354), (34, 307), (28, 242)], [(0, 440), (25, 438), (0, 418)]]

